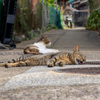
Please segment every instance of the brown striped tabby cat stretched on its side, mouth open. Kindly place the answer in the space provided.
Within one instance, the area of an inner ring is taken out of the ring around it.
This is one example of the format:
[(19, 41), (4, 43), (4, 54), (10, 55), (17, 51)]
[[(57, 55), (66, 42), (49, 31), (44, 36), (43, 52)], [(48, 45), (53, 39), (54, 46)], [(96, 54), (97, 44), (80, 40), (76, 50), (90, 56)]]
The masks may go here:
[(79, 51), (79, 46), (76, 45), (73, 53), (58, 52), (44, 55), (23, 55), (19, 59), (13, 59), (7, 63), (2, 63), (0, 66), (22, 67), (22, 66), (38, 66), (47, 65), (48, 67), (63, 66), (72, 64), (84, 64), (86, 62), (85, 56)]

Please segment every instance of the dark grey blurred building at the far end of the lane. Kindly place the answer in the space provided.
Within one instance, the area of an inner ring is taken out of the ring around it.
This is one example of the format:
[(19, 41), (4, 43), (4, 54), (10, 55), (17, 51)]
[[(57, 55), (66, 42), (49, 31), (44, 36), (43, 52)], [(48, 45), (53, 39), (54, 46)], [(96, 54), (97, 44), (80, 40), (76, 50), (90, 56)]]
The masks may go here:
[(72, 3), (72, 7), (78, 10), (78, 12), (74, 12), (73, 14), (74, 24), (86, 26), (89, 15), (88, 0), (75, 0)]

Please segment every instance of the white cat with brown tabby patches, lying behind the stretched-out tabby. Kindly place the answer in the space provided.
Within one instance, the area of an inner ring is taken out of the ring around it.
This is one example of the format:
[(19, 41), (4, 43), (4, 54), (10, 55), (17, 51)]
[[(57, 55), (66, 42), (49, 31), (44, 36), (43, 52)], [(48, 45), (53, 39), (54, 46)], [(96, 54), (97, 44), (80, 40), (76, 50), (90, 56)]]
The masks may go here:
[(51, 42), (47, 36), (41, 36), (41, 38), (34, 44), (27, 45), (24, 48), (24, 54), (45, 54), (45, 53), (57, 53), (58, 50), (47, 49), (46, 46), (50, 46)]

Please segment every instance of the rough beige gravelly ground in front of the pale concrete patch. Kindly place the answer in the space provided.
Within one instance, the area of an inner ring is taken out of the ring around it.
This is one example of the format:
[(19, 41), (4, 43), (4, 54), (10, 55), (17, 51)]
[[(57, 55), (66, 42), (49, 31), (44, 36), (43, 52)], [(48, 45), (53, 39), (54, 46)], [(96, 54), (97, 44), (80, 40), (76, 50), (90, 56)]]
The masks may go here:
[(100, 85), (32, 86), (0, 94), (0, 100), (100, 100)]

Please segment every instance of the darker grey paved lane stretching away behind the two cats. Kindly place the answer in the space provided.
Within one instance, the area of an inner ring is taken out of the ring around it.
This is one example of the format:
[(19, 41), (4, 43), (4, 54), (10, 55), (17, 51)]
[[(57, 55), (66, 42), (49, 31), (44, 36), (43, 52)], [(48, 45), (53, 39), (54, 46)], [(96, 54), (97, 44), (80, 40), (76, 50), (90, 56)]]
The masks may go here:
[[(73, 50), (74, 46), (79, 44), (84, 51), (99, 51), (100, 37), (97, 32), (79, 30), (53, 30), (45, 33), (51, 39), (52, 47), (61, 50)], [(17, 48), (23, 48), (26, 44), (34, 43), (39, 37), (34, 40), (25, 41), (17, 45)]]

